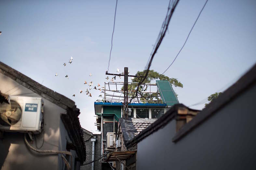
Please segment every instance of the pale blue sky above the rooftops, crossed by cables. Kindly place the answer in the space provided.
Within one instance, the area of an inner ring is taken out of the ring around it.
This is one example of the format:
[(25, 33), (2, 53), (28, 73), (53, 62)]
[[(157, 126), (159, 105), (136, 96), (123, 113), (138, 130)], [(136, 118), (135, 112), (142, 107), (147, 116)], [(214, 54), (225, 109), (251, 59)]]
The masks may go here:
[[(181, 0), (151, 69), (162, 73), (182, 47), (205, 0)], [(142, 71), (167, 12), (168, 0), (118, 1), (109, 72)], [(256, 2), (209, 0), (189, 40), (166, 72), (187, 106), (232, 85), (256, 62)], [(83, 128), (93, 130), (93, 97), (84, 80), (103, 84), (115, 0), (0, 1), (0, 61), (75, 101)], [(68, 64), (68, 59), (74, 60)], [(63, 67), (63, 62), (67, 63)], [(55, 77), (55, 73), (59, 76)], [(90, 72), (93, 74), (89, 77)], [(69, 79), (65, 75), (69, 75)], [(75, 97), (72, 95), (76, 94)], [(204, 103), (192, 108), (202, 109)]]

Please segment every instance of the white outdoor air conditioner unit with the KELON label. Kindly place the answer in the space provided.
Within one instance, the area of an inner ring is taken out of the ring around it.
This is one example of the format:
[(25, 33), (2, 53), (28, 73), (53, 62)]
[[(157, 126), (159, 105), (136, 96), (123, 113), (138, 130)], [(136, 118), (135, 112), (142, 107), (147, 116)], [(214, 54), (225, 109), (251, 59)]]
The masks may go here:
[(0, 104), (0, 130), (40, 133), (43, 105), (40, 97), (10, 97), (10, 104)]

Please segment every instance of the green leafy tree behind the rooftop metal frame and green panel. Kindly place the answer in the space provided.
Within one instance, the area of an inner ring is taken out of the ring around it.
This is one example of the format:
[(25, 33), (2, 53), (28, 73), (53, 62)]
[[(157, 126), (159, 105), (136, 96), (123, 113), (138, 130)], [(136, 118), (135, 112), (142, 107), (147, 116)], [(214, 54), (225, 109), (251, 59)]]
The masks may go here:
[[(146, 70), (140, 72), (137, 72), (137, 76), (143, 76), (145, 75)], [(175, 87), (181, 87), (183, 88), (183, 85), (181, 82), (178, 81), (178, 79), (176, 78), (169, 78), (168, 76), (165, 76), (163, 74), (159, 74), (157, 72), (155, 72), (154, 70), (149, 70), (148, 72), (148, 76), (146, 77), (146, 79), (142, 82), (142, 83), (151, 83), (151, 81), (153, 80), (168, 80), (172, 85), (174, 85)], [(132, 82), (140, 82), (141, 78), (139, 77), (135, 77), (134, 79), (132, 79)], [(128, 91), (132, 91), (134, 92), (133, 95), (135, 95), (136, 92), (136, 87), (137, 84), (132, 84), (132, 85), (128, 85)], [(143, 88), (143, 85), (140, 85), (139, 90), (138, 90), (138, 95), (141, 96), (141, 102), (143, 103), (154, 103), (152, 100), (157, 100), (160, 101), (160, 98), (158, 97), (157, 94), (151, 94), (149, 95), (148, 93), (141, 93), (142, 91), (146, 91), (147, 90), (147, 86), (146, 88)], [(123, 90), (123, 87), (122, 87)], [(176, 93), (175, 93), (176, 94)], [(176, 96), (178, 96), (176, 94)]]

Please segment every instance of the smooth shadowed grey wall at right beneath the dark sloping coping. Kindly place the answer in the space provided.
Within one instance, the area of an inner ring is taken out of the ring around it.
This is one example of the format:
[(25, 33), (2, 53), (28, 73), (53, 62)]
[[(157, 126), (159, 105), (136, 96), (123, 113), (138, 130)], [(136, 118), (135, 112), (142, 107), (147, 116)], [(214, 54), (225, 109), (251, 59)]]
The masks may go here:
[(254, 85), (177, 143), (175, 120), (137, 145), (137, 169), (256, 169)]

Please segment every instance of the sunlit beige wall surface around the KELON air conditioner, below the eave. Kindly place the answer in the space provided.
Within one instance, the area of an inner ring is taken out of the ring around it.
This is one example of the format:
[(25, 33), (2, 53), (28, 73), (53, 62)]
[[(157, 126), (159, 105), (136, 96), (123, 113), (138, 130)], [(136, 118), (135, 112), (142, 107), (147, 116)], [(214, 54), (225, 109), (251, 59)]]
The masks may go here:
[[(10, 96), (41, 97), (3, 74), (0, 74), (0, 90)], [(65, 150), (66, 142), (70, 139), (60, 119), (60, 114), (66, 114), (66, 110), (44, 98), (43, 100), (44, 135), (41, 133), (37, 136), (37, 146), (42, 145), (44, 138), (41, 150)], [(35, 142), (31, 145), (35, 147)], [(62, 169), (63, 166), (60, 155), (38, 154), (29, 150), (25, 145), (23, 133), (5, 132), (3, 139), (0, 140), (0, 151), (1, 170)], [(76, 153), (74, 151), (72, 153), (75, 156)], [(72, 165), (74, 167), (74, 162)]]

